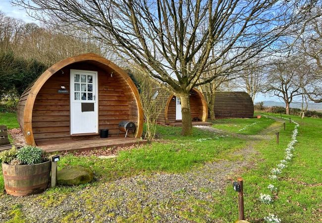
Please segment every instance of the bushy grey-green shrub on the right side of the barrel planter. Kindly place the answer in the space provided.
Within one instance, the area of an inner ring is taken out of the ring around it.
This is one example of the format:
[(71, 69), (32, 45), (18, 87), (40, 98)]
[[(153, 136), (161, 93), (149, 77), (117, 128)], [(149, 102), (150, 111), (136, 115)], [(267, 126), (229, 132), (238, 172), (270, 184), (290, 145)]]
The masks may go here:
[(18, 150), (17, 159), (24, 165), (40, 164), (44, 161), (44, 151), (36, 146), (24, 146)]

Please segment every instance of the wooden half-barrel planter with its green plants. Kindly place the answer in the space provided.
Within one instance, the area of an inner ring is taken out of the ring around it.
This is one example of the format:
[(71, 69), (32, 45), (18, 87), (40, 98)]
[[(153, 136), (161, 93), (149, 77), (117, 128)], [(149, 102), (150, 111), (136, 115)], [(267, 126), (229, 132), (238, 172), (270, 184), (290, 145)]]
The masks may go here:
[(17, 150), (13, 146), (0, 153), (0, 161), (7, 194), (37, 194), (48, 187), (51, 162), (41, 148), (25, 146)]

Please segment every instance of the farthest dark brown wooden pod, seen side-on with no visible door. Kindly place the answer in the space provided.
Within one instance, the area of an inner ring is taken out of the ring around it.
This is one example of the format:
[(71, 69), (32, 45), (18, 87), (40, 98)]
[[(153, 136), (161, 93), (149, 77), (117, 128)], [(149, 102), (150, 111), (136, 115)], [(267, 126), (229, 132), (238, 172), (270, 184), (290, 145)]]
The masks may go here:
[(254, 116), (253, 100), (246, 92), (216, 92), (215, 94), (215, 118)]

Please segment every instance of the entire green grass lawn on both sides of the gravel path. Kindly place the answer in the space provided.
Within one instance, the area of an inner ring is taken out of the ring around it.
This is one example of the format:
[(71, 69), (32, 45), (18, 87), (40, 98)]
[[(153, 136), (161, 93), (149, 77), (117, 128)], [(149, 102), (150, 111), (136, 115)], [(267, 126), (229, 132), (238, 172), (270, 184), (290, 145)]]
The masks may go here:
[[(66, 196), (77, 197), (78, 191), (84, 187), (90, 187), (89, 194), (95, 193), (97, 186), (107, 181), (112, 182), (119, 177), (136, 174), (149, 175), (153, 172), (182, 173), (195, 167), (202, 167), (203, 164), (212, 162), (214, 159), (234, 162), (240, 158), (235, 156), (234, 152), (252, 142), (254, 149), (258, 151), (258, 154), (252, 158), (256, 161), (256, 165), (243, 169), (241, 174), (244, 179), (246, 219), (251, 223), (263, 223), (264, 217), (272, 213), (285, 223), (321, 222), (322, 119), (305, 118), (302, 120), (296, 116), (286, 115), (284, 117), (291, 117), (300, 124), (300, 127), (298, 143), (294, 146), (294, 157), (279, 175), (279, 180), (271, 180), (268, 175), (271, 168), (276, 167), (283, 159), (285, 148), (291, 140), (294, 124), (286, 121), (284, 131), (280, 123), (264, 116), (261, 119), (219, 119), (213, 125), (215, 128), (244, 135), (256, 135), (273, 124), (280, 132), (279, 145), (276, 145), (275, 138), (270, 140), (263, 138), (253, 142), (252, 137), (241, 139), (221, 136), (198, 128), (194, 128), (193, 136), (182, 137), (180, 127), (160, 125), (157, 132), (161, 140), (151, 145), (121, 151), (116, 159), (102, 160), (94, 156), (75, 157), (72, 154), (62, 157), (58, 163), (59, 168), (65, 165), (93, 167), (96, 182), (79, 187), (58, 186), (47, 190), (35, 199), (40, 199), (46, 207), (53, 208), (54, 198), (62, 202)], [(253, 124), (255, 122), (257, 123)], [(244, 130), (239, 131), (243, 128)], [(233, 173), (230, 176), (237, 178), (237, 175)], [(3, 189), (1, 183), (0, 174), (0, 189)], [(268, 184), (277, 187), (277, 192), (271, 193), (267, 188)], [(162, 210), (175, 214), (181, 219), (197, 223), (206, 223), (205, 219), (212, 219), (217, 223), (236, 221), (238, 217), (237, 193), (233, 191), (232, 185), (228, 185), (220, 192), (209, 191), (207, 188), (201, 188), (200, 191), (211, 196), (213, 201), (196, 199), (192, 195), (185, 196), (183, 190), (178, 195), (184, 197), (183, 200), (170, 200), (166, 204), (169, 209)], [(273, 203), (269, 205), (261, 203), (259, 200), (261, 193), (270, 194), (273, 197)], [(140, 201), (137, 203), (139, 204)], [(137, 207), (137, 210), (138, 213), (143, 212), (141, 205)], [(158, 212), (158, 210), (155, 211)], [(93, 212), (95, 213), (95, 210)], [(150, 212), (151, 210), (148, 214)]]

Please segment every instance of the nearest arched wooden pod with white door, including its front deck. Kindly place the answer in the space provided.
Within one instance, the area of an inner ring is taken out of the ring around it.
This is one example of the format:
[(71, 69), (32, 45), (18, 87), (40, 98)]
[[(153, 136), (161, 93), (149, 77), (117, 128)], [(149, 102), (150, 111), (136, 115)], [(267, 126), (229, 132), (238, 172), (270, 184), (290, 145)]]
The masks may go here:
[[(117, 137), (120, 121), (135, 123), (136, 138), (124, 138), (124, 132)], [(25, 90), (18, 122), (29, 145), (88, 150), (137, 143), (143, 111), (136, 86), (120, 67), (84, 54), (57, 62)], [(101, 129), (108, 129), (108, 138), (100, 138)]]

